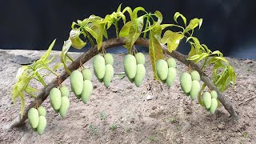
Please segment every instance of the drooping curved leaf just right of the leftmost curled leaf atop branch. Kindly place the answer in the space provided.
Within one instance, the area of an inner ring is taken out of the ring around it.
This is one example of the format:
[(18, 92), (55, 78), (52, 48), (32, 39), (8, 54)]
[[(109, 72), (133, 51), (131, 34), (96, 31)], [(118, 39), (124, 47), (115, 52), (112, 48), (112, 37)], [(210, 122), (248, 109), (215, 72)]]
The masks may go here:
[(103, 41), (103, 33), (101, 28), (94, 25), (93, 23), (88, 23), (87, 26), (84, 27), (84, 29), (96, 39), (98, 50), (100, 50)]

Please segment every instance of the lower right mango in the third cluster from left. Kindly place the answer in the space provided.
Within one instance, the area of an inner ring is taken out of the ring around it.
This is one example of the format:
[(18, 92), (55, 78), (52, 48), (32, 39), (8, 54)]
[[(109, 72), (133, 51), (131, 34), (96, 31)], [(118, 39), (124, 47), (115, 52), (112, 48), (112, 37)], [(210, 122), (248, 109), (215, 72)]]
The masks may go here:
[(88, 102), (90, 94), (93, 92), (94, 86), (89, 80), (83, 82), (83, 90), (81, 94), (82, 102)]

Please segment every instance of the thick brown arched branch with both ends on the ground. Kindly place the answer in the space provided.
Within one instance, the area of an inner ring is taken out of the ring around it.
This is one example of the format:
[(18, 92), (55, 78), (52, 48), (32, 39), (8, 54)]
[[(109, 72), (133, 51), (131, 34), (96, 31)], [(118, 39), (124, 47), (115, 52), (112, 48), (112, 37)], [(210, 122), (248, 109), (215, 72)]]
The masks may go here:
[[(125, 42), (124, 42), (123, 38), (118, 38), (118, 39), (113, 38), (113, 39), (103, 42), (102, 48), (104, 48), (106, 50), (108, 48), (111, 48), (114, 46), (122, 46), (124, 44), (125, 44)], [(144, 38), (138, 38), (138, 40), (135, 42), (135, 45), (148, 47), (149, 41)], [(194, 62), (186, 60), (186, 55), (183, 55), (183, 54), (179, 53), (178, 51), (174, 50), (172, 53), (168, 52), (167, 47), (165, 45), (162, 45), (162, 49), (164, 51), (166, 51), (167, 54), (170, 54), (170, 56), (172, 56), (172, 57), (176, 58), (178, 61), (184, 63), (186, 66), (190, 65), (194, 70), (198, 70), (199, 74), (202, 77), (202, 81), (206, 83), (206, 86), (208, 86), (211, 90), (216, 90), (218, 92), (218, 99), (220, 100), (220, 102), (222, 102), (222, 105), (230, 113), (231, 117), (232, 118), (238, 117), (236, 112), (234, 111), (233, 106), (230, 104), (230, 102), (227, 101), (227, 99), (219, 92), (219, 90), (216, 88), (216, 86), (214, 86), (214, 83), (211, 82), (210, 78), (208, 78), (206, 76), (206, 74), (203, 73), (202, 70), (196, 64), (194, 64)], [(80, 66), (80, 62), (82, 62), (82, 64), (83, 64), (83, 63), (87, 62), (88, 60), (90, 60), (90, 58), (93, 58), (94, 55), (96, 55), (96, 54), (98, 54), (98, 50), (97, 50), (97, 46), (94, 46), (94, 47), (90, 48), (90, 50), (88, 50), (86, 53), (82, 54), (74, 62), (72, 62), (70, 64), (70, 66), (68, 66), (69, 70), (71, 72), (73, 70), (77, 70), (78, 67)], [(38, 94), (38, 97), (35, 98), (34, 102), (30, 103), (29, 106), (26, 106), (24, 116), (22, 118), (20, 118), (20, 114), (19, 114), (18, 117), (15, 118), (14, 121), (11, 122), (9, 126), (7, 126), (7, 128), (14, 128), (17, 126), (21, 126), (27, 119), (28, 110), (30, 110), (30, 108), (34, 107), (36, 103), (41, 105), (42, 102), (44, 102), (46, 100), (46, 98), (48, 97), (50, 90), (52, 88), (58, 86), (58, 81), (63, 82), (68, 77), (69, 77), (69, 74), (67, 74), (66, 71), (64, 71), (58, 78), (55, 78), (52, 82), (50, 82), (50, 84), (48, 84), (46, 87), (44, 87), (41, 90), (41, 92)]]

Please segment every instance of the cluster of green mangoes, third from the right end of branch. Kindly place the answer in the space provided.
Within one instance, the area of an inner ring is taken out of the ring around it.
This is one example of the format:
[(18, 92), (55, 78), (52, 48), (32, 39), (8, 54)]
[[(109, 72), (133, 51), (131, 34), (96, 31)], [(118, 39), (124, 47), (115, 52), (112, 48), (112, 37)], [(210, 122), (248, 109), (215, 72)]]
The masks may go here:
[(168, 58), (167, 61), (159, 59), (156, 64), (158, 78), (167, 86), (172, 86), (177, 76), (176, 61), (174, 58)]

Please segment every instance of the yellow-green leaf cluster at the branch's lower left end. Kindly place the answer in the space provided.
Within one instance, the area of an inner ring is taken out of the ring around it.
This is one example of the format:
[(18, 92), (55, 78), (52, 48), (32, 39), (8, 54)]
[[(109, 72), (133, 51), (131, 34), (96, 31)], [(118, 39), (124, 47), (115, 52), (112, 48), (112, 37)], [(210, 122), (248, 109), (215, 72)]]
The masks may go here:
[[(54, 66), (53, 70), (51, 70), (48, 66), (48, 64), (54, 60), (54, 57), (49, 58), (54, 43), (55, 40), (50, 44), (46, 53), (43, 54), (42, 57), (38, 59), (38, 61), (34, 62), (30, 66), (22, 66), (18, 69), (18, 73), (16, 74), (18, 81), (14, 84), (11, 94), (14, 102), (16, 102), (17, 98), (20, 98), (21, 100), (21, 116), (23, 116), (25, 110), (25, 94), (29, 94), (32, 98), (36, 98), (35, 94), (38, 92), (38, 90), (30, 86), (30, 81), (34, 79), (38, 82), (41, 82), (43, 86), (46, 86), (46, 82), (44, 81), (46, 76), (49, 74), (58, 75), (54, 72), (54, 70), (57, 70), (60, 66), (62, 66), (62, 64)], [(43, 75), (39, 74), (40, 70), (47, 70), (48, 73)]]

